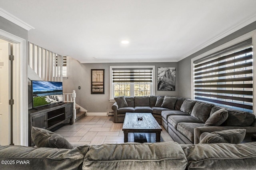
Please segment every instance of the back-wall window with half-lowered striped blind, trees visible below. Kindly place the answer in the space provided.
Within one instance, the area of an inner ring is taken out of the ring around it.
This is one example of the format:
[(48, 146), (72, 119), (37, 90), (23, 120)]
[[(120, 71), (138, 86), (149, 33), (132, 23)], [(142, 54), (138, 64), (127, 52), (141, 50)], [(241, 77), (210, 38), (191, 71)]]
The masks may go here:
[(154, 95), (154, 66), (143, 67), (110, 66), (110, 100), (117, 96)]

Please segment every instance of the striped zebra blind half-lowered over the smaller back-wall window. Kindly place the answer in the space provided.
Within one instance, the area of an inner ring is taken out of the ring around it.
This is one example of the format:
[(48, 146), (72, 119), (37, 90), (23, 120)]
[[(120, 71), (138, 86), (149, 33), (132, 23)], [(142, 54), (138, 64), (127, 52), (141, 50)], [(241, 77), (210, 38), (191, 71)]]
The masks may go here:
[(113, 83), (147, 83), (152, 82), (152, 69), (144, 70), (113, 70), (112, 72)]

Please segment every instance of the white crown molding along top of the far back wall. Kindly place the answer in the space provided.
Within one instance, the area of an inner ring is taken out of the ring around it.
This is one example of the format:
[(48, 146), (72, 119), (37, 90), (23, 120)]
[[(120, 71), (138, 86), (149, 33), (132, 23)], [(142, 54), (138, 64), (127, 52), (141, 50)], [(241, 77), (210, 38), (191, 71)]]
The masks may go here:
[[(78, 60), (79, 61), (79, 60)], [(84, 61), (79, 61), (80, 63), (123, 63), (123, 62), (178, 62), (178, 60), (84, 60)]]

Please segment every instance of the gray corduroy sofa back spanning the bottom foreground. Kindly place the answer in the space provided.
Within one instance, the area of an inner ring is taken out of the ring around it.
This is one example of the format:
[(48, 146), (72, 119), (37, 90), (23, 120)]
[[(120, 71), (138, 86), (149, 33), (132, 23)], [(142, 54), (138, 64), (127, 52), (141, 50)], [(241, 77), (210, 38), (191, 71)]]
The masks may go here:
[(0, 146), (0, 170), (255, 170), (256, 142), (84, 145), (73, 149)]

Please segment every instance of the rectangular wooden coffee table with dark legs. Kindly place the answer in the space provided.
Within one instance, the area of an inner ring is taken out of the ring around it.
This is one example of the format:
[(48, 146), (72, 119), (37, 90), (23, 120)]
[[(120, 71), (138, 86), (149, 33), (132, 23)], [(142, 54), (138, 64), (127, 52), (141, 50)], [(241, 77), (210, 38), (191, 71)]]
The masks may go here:
[[(138, 120), (137, 116), (142, 116)], [(128, 142), (128, 133), (156, 133), (156, 142), (160, 142), (161, 126), (151, 113), (126, 113), (124, 117), (124, 142)]]

